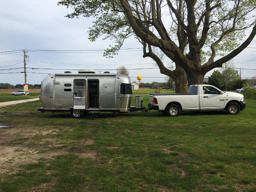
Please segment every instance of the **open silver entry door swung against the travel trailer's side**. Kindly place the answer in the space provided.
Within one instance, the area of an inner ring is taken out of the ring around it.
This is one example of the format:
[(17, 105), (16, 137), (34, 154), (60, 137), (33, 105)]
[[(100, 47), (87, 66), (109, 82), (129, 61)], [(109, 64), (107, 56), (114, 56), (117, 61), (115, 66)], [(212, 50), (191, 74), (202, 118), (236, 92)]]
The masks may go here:
[(86, 81), (74, 79), (74, 109), (86, 109)]

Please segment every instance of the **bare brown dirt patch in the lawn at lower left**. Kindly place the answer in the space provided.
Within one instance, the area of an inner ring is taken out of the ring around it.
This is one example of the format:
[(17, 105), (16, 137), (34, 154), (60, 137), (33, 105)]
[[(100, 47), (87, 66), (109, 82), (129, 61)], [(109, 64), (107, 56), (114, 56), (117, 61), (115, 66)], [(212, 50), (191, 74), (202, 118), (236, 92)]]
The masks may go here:
[[(0, 128), (0, 173), (11, 174), (17, 172), (20, 165), (37, 163), (40, 158), (52, 159), (61, 154), (77, 154), (79, 157), (96, 159), (96, 151), (82, 148), (84, 145), (92, 145), (93, 140), (82, 140), (81, 148), (61, 148), (63, 144), (60, 141), (47, 137), (47, 134), (56, 131), (29, 127)], [(40, 140), (35, 142), (35, 137), (40, 137)]]

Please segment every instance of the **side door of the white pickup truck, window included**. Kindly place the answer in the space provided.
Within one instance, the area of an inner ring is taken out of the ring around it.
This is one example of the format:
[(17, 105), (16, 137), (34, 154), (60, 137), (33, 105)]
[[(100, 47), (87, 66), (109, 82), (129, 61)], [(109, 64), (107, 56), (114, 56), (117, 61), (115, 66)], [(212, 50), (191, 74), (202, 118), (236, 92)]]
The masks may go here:
[(201, 110), (222, 110), (225, 105), (225, 96), (211, 86), (203, 86), (201, 90)]

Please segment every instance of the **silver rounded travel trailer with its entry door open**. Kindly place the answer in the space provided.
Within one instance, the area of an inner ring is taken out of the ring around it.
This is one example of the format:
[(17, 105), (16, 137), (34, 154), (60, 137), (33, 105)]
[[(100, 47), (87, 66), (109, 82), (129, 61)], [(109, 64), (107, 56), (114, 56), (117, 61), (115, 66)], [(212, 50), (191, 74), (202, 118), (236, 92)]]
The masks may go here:
[(141, 104), (131, 107), (132, 90), (127, 76), (94, 70), (46, 76), (40, 99), (43, 107), (38, 111), (70, 111), (74, 118), (90, 111), (128, 112), (141, 108)]

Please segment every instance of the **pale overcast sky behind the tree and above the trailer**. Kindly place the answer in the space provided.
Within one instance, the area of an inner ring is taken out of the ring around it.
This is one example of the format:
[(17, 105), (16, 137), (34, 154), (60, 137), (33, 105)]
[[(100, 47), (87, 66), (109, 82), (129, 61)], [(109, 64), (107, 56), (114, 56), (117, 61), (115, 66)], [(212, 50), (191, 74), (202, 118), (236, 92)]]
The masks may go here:
[[(141, 44), (135, 39), (125, 41), (123, 50), (114, 58), (103, 57), (103, 50), (113, 41), (88, 40), (91, 18), (64, 17), (71, 9), (57, 6), (58, 0), (0, 0), (0, 83), (24, 84), (23, 49), (26, 55), (27, 83), (41, 84), (49, 73), (77, 69), (103, 70), (116, 73), (125, 66), (131, 81), (141, 75), (144, 83), (164, 82), (165, 75), (150, 58), (143, 58)], [(48, 52), (38, 50), (94, 50), (88, 52)], [(256, 76), (256, 40), (234, 58), (242, 79)], [(164, 62), (168, 64), (168, 60)], [(153, 69), (151, 69), (153, 68)], [(135, 70), (132, 70), (135, 69)], [(218, 70), (216, 68), (215, 70)], [(99, 73), (99, 72), (97, 72)], [(210, 76), (212, 73), (207, 73)]]

